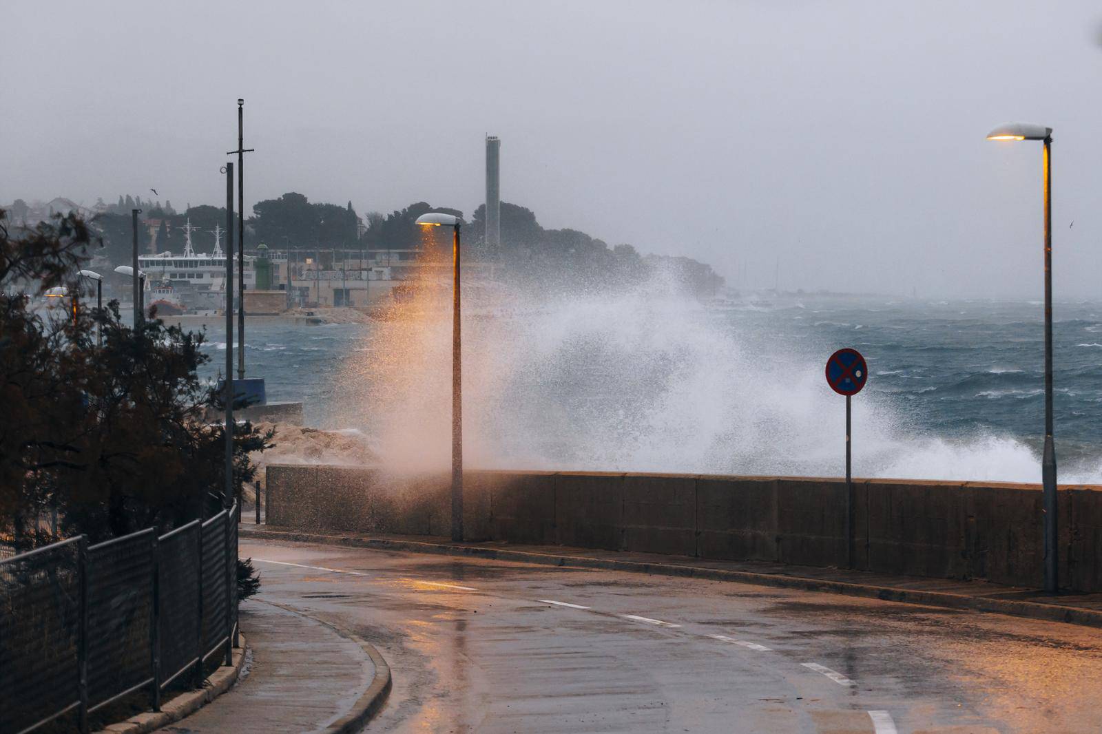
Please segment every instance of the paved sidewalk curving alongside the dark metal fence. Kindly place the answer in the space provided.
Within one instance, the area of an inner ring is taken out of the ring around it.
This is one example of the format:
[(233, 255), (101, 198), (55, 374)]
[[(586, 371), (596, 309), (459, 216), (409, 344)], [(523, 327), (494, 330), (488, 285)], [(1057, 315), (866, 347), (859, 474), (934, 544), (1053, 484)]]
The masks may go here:
[[(251, 659), (237, 686), (161, 732), (270, 734), (358, 731), (364, 694), (378, 671), (357, 640), (302, 614), (262, 601), (241, 604)], [(385, 668), (385, 663), (382, 668)], [(389, 681), (389, 671), (382, 673)], [(375, 687), (377, 688), (377, 687)], [(352, 719), (359, 717), (355, 726)]]

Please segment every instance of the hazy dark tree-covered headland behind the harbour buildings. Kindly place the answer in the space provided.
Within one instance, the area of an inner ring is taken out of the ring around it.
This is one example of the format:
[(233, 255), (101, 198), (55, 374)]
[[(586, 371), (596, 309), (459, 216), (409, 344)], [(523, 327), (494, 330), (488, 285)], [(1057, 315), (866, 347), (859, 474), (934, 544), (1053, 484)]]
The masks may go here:
[[(214, 249), (215, 227), (225, 227), (223, 207), (188, 206), (183, 213), (171, 202), (143, 201), (120, 195), (118, 202), (102, 207), (90, 226), (101, 238), (101, 255), (112, 265), (127, 263), (131, 252), (132, 208), (142, 208), (138, 247), (148, 251), (151, 225), (155, 225), (159, 250), (179, 252), (184, 247), (183, 227), (190, 220), (192, 244), (199, 252)], [(426, 212), (445, 212), (463, 218), (463, 212), (429, 202), (415, 202), (390, 214), (369, 212), (357, 215), (352, 202), (345, 206), (311, 202), (296, 192), (279, 198), (257, 202), (246, 218), (245, 246), (251, 249), (264, 242), (272, 250), (415, 250), (422, 246), (422, 233), (414, 224)], [(235, 213), (234, 228), (237, 229)], [(363, 229), (363, 234), (360, 234)], [(703, 262), (688, 257), (639, 253), (628, 244), (609, 246), (606, 241), (577, 229), (548, 229), (536, 213), (525, 206), (501, 202), (501, 247), (489, 252), (485, 242), (486, 207), (475, 209), (464, 224), (464, 249), (472, 261), (493, 260), (501, 277), (523, 282), (526, 288), (562, 287), (619, 288), (644, 282), (656, 274), (680, 284), (699, 298), (709, 298), (723, 285), (723, 278)], [(223, 240), (225, 241), (225, 240)]]

